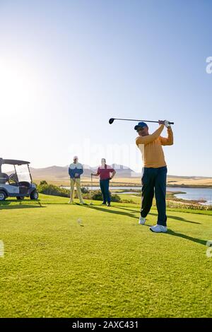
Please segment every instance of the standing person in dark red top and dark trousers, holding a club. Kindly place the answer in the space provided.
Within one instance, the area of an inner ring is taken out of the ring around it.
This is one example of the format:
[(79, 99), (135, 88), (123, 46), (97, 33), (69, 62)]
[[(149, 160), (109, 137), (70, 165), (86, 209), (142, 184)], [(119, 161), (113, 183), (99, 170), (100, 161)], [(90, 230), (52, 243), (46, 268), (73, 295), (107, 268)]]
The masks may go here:
[[(100, 175), (100, 189), (102, 191), (103, 196), (103, 202), (102, 204), (106, 204), (107, 206), (110, 206), (110, 193), (109, 193), (109, 184), (110, 179), (114, 177), (114, 174), (116, 174), (116, 171), (109, 165), (106, 164), (105, 158), (102, 158), (101, 160), (101, 166), (98, 167), (98, 171), (94, 175), (95, 177)], [(112, 173), (112, 175), (110, 175)]]

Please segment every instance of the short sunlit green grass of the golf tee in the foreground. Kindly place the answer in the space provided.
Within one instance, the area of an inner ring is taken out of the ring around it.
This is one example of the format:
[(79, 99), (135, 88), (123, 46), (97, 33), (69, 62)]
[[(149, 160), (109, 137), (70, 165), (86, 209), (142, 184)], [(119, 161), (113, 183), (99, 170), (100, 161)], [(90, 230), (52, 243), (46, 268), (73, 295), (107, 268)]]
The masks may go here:
[(155, 208), (142, 226), (139, 204), (67, 201), (1, 204), (1, 317), (212, 316), (211, 211), (169, 209), (154, 234)]

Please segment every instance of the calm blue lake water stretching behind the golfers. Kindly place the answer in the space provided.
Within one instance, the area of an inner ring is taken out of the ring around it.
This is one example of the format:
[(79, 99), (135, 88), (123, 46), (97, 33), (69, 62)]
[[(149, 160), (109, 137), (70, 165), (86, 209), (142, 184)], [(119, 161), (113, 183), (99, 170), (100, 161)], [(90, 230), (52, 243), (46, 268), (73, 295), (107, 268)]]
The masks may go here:
[[(64, 187), (66, 189), (70, 189), (69, 186)], [(88, 187), (90, 189), (90, 187)], [(93, 186), (93, 190), (100, 189), (99, 186)], [(118, 189), (137, 189), (141, 190), (139, 186), (111, 186), (110, 189), (118, 190)], [(210, 188), (184, 188), (184, 187), (167, 187), (167, 191), (183, 191), (185, 194), (176, 194), (177, 198), (188, 199), (190, 201), (199, 201), (201, 199), (206, 200), (206, 203), (202, 203), (204, 205), (212, 205), (212, 189)], [(123, 194), (132, 194), (132, 193), (123, 193)]]

